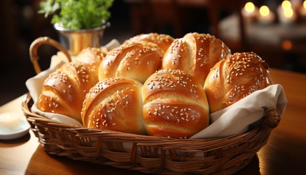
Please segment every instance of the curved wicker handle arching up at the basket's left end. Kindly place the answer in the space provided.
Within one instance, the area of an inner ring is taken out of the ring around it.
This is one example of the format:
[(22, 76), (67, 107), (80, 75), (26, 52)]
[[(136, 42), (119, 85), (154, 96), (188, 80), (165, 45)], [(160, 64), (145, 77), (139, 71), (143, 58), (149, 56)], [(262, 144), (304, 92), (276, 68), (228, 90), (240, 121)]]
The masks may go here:
[(71, 62), (71, 57), (70, 57), (67, 49), (62, 44), (60, 44), (59, 42), (57, 42), (57, 41), (55, 41), (55, 40), (53, 40), (53, 39), (51, 39), (47, 36), (39, 37), (36, 40), (34, 40), (31, 44), (31, 46), (30, 46), (30, 59), (31, 59), (31, 62), (33, 64), (33, 67), (35, 69), (36, 74), (39, 74), (41, 72), (41, 69), (40, 69), (40, 66), (39, 66), (39, 63), (38, 63), (39, 57), (37, 55), (37, 50), (43, 44), (51, 45), (51, 46), (57, 48), (58, 50), (64, 52), (64, 54), (67, 56), (69, 62)]

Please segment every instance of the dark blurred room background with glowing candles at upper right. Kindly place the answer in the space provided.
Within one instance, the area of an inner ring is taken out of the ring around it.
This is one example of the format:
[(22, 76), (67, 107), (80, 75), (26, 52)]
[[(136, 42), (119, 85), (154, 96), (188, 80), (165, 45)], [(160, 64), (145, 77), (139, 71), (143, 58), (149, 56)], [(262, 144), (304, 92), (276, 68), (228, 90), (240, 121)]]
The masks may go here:
[[(40, 0), (0, 1), (1, 87), (0, 105), (28, 90), (25, 81), (35, 76), (29, 47), (39, 36), (58, 40), (51, 17), (38, 14)], [(140, 33), (158, 32), (181, 38), (189, 32), (210, 33), (224, 41), (232, 53), (253, 51), (270, 67), (306, 72), (306, 2), (292, 0), (115, 0), (111, 27), (102, 44), (120, 43)], [(304, 2), (304, 6), (303, 6)], [(283, 6), (282, 6), (283, 5)], [(57, 50), (39, 48), (42, 70)], [(303, 80), (302, 80), (303, 81)], [(304, 80), (305, 81), (305, 80)], [(18, 106), (19, 108), (19, 106)]]

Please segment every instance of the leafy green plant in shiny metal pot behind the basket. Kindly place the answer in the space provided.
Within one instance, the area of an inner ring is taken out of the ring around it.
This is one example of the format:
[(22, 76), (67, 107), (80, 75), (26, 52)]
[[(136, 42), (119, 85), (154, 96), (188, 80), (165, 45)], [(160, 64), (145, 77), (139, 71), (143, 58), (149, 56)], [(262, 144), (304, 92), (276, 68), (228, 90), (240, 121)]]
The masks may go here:
[[(59, 40), (71, 55), (87, 47), (100, 47), (110, 17), (108, 9), (114, 0), (47, 0), (40, 3), (45, 17), (53, 15), (51, 23)], [(56, 12), (60, 11), (58, 14)]]

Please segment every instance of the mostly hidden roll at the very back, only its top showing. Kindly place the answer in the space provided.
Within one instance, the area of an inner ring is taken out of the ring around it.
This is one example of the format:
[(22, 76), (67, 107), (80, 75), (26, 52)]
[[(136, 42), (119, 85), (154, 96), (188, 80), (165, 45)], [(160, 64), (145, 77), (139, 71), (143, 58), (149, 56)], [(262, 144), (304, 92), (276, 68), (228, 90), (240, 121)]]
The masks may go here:
[[(165, 54), (166, 50), (174, 41), (174, 38), (172, 38), (170, 35), (158, 34), (158, 33), (140, 34), (130, 38), (129, 40), (126, 40), (123, 43), (123, 45), (131, 43), (140, 43), (141, 41), (145, 41), (149, 45), (151, 43), (156, 44), (158, 47), (153, 47), (153, 48), (157, 48), (162, 54)], [(151, 47), (149, 45), (147, 46)]]

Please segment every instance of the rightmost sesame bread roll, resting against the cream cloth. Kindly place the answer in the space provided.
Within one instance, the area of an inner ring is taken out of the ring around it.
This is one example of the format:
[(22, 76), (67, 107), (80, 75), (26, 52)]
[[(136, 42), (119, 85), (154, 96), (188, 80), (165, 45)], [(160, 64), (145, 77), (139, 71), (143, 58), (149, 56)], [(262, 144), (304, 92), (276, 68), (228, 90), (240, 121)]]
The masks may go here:
[(269, 65), (253, 52), (235, 53), (208, 74), (204, 90), (210, 113), (226, 108), (256, 90), (272, 85)]

